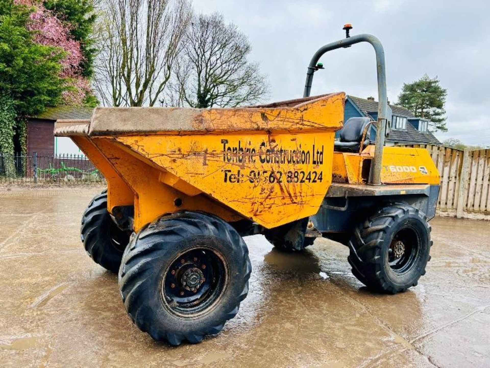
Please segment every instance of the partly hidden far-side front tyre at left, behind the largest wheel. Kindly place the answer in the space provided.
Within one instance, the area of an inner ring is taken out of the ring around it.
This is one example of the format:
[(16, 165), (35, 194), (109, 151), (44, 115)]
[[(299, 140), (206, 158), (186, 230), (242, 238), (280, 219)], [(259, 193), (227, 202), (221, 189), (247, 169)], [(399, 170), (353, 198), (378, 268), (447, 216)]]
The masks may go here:
[(80, 238), (94, 262), (118, 272), (129, 235), (117, 227), (107, 210), (107, 189), (96, 195), (83, 213)]

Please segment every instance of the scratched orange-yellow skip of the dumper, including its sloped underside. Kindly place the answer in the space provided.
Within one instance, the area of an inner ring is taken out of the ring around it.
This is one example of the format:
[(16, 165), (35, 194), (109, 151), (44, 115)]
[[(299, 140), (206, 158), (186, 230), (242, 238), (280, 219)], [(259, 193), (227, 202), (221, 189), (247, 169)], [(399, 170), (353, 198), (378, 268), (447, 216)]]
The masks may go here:
[[(107, 178), (109, 210), (134, 205), (135, 231), (176, 210), (271, 228), (318, 211), (332, 180), (344, 99), (338, 93), (294, 107), (162, 110), (182, 112), (184, 120), (160, 125), (153, 115), (138, 129), (141, 122), (130, 118), (120, 130), (102, 121), (113, 133), (68, 135)], [(125, 119), (133, 111), (114, 113)]]

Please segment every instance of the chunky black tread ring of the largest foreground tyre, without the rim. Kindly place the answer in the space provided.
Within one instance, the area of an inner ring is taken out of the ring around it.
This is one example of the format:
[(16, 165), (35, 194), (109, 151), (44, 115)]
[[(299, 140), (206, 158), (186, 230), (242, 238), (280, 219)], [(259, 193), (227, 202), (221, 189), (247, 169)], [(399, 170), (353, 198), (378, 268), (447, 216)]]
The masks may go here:
[[(242, 274), (245, 275), (245, 285), (236, 303), (212, 326), (186, 332), (165, 331), (158, 324), (151, 323), (154, 312), (147, 308), (144, 302), (148, 288), (146, 281), (148, 273), (151, 272), (151, 264), (157, 259), (169, 257), (176, 243), (185, 241), (187, 235), (213, 235), (229, 240), (238, 251), (237, 257), (243, 259)], [(240, 302), (248, 293), (251, 270), (245, 241), (228, 223), (207, 213), (184, 211), (162, 217), (140, 233), (133, 234), (123, 255), (119, 286), (127, 314), (140, 330), (147, 332), (154, 340), (166, 341), (172, 345), (179, 345), (185, 340), (197, 343), (206, 335), (219, 333), (224, 323), (238, 313)]]

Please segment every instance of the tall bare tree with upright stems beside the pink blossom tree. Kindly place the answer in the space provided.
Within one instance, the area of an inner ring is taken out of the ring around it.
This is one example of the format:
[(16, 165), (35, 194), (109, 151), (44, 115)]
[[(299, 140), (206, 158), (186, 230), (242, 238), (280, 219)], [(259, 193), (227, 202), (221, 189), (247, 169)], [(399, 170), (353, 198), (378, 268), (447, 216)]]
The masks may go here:
[(105, 0), (95, 84), (104, 105), (153, 106), (191, 19), (188, 0)]

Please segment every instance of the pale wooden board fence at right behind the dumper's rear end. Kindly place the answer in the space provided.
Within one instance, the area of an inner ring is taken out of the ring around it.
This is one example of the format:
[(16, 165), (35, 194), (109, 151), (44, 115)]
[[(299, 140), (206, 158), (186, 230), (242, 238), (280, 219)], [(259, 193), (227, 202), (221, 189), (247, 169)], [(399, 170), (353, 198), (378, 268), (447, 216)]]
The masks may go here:
[(423, 144), (406, 147), (426, 148), (441, 173), (441, 215), (490, 218), (490, 149), (463, 151)]

